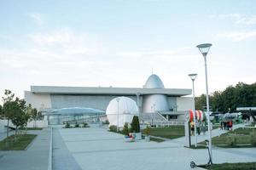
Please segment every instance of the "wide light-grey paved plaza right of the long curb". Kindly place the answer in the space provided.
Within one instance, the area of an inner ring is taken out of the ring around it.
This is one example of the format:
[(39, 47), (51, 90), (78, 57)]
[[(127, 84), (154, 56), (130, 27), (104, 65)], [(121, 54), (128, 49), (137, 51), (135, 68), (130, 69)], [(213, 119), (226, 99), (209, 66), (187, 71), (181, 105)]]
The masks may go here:
[[(94, 170), (170, 170), (190, 169), (189, 162), (203, 164), (208, 160), (207, 150), (192, 150), (183, 147), (183, 142), (168, 140), (162, 143), (144, 140), (125, 143), (123, 135), (108, 132), (106, 128), (57, 128), (60, 136), (54, 140), (63, 140), (67, 147), (64, 164), (73, 164), (77, 169)], [(206, 136), (207, 137), (207, 136)], [(69, 153), (68, 153), (69, 152)], [(256, 148), (213, 149), (213, 161), (247, 162), (255, 161)], [(54, 155), (55, 160), (55, 155)], [(61, 161), (61, 160), (60, 160)], [(54, 162), (56, 167), (58, 162)], [(64, 169), (70, 169), (69, 167)]]

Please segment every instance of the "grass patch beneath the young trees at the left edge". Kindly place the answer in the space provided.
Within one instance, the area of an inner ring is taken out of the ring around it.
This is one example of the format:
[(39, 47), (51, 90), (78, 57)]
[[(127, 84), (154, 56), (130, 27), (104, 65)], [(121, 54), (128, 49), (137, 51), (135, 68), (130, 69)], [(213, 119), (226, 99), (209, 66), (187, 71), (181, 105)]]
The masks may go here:
[(28, 144), (37, 136), (36, 134), (20, 134), (14, 141), (15, 135), (11, 135), (0, 141), (0, 150), (26, 150)]

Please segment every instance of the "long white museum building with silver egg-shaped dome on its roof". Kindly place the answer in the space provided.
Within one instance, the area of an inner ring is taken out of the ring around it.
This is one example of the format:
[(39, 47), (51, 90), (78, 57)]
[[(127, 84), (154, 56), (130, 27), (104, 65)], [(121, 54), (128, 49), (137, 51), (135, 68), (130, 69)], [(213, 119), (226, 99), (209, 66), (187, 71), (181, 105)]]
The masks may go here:
[[(55, 87), (32, 86), (25, 92), (27, 104), (32, 104), (39, 111), (69, 107), (87, 107), (106, 111), (109, 102), (125, 96), (137, 103), (139, 112), (169, 112), (177, 119), (177, 111), (194, 109), (193, 99), (183, 97), (191, 94), (191, 89), (165, 88), (157, 75), (148, 77), (143, 88), (94, 88), (94, 87)], [(182, 118), (183, 119), (183, 118)]]

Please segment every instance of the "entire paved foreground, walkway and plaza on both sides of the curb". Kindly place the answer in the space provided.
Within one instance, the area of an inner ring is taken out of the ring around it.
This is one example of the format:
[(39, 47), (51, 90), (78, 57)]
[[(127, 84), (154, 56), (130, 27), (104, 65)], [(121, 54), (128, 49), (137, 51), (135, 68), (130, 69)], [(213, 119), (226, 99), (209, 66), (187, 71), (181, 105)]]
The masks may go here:
[[(46, 170), (49, 165), (50, 128), (38, 133), (27, 150), (0, 151), (0, 169)], [(213, 130), (213, 135), (223, 133)], [(201, 135), (199, 140), (207, 138)], [(108, 132), (107, 127), (53, 128), (52, 169), (54, 170), (170, 170), (191, 169), (190, 161), (207, 162), (207, 150), (183, 147), (183, 139), (162, 143), (126, 143), (123, 135)], [(193, 141), (194, 139), (192, 139)], [(256, 160), (256, 148), (213, 148), (214, 163)]]

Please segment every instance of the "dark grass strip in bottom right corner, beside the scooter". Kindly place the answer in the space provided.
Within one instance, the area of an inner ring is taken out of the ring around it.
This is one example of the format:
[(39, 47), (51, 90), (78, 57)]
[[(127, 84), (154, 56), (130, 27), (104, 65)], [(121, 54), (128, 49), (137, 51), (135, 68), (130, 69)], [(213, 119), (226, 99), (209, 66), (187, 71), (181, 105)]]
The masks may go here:
[(212, 170), (255, 170), (256, 162), (213, 164)]

